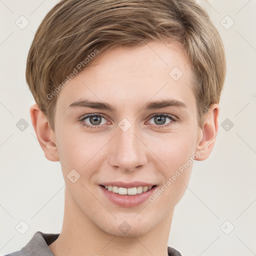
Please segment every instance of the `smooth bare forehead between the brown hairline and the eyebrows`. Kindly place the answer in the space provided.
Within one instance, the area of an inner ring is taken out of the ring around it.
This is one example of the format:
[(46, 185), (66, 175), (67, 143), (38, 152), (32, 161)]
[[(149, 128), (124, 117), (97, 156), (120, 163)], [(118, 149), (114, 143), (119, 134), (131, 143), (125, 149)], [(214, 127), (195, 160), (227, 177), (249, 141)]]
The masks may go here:
[(62, 88), (57, 107), (67, 110), (81, 98), (131, 107), (164, 97), (194, 107), (192, 72), (179, 44), (151, 41), (98, 54)]

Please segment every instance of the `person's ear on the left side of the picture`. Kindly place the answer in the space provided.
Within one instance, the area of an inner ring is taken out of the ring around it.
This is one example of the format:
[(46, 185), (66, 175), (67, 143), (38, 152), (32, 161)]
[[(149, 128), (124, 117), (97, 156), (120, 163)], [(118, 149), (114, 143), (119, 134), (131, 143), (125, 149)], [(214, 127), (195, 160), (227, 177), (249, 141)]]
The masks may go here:
[(34, 103), (30, 107), (30, 117), (45, 157), (50, 161), (59, 161), (54, 131), (50, 128), (38, 104)]

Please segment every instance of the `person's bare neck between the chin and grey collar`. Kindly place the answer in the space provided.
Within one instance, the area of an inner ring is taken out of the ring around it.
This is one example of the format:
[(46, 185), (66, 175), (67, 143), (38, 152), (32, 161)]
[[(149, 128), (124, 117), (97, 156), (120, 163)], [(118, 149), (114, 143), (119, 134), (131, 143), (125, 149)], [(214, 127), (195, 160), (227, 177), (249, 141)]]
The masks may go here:
[(167, 256), (172, 215), (173, 210), (166, 218), (142, 235), (112, 235), (102, 230), (85, 215), (65, 188), (62, 230), (49, 248), (54, 256)]

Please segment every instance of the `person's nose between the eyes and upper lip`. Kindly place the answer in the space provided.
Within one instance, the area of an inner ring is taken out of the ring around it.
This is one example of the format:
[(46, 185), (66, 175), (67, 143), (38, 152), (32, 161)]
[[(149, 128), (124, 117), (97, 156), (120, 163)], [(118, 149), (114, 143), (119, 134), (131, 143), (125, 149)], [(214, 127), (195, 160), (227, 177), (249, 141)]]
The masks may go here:
[(117, 134), (111, 141), (110, 165), (115, 169), (131, 172), (147, 162), (147, 147), (141, 141), (139, 132), (133, 128), (123, 131), (117, 127)]

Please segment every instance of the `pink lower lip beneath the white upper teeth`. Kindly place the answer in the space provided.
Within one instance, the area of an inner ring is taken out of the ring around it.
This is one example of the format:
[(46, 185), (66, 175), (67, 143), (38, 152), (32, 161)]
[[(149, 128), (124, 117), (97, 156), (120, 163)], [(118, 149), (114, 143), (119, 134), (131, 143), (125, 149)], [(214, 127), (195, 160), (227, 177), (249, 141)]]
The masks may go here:
[(101, 190), (105, 194), (105, 196), (113, 203), (118, 204), (122, 207), (134, 207), (139, 205), (140, 203), (146, 201), (154, 192), (157, 186), (152, 187), (150, 190), (146, 192), (142, 192), (140, 194), (134, 194), (134, 195), (121, 195), (118, 193), (113, 193), (111, 191), (108, 191), (100, 185)]

